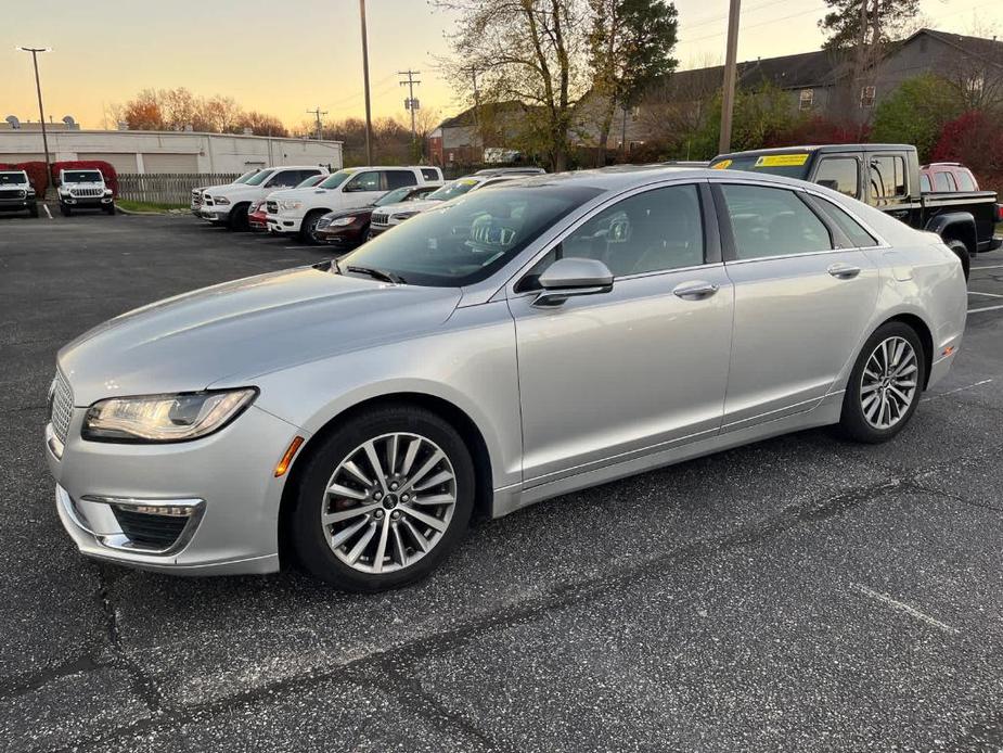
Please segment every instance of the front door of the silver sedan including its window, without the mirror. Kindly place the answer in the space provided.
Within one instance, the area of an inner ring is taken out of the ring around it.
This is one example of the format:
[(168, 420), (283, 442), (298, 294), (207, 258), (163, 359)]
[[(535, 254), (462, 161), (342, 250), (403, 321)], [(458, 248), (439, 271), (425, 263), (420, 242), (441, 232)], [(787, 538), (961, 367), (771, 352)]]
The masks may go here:
[[(573, 231), (516, 285), (528, 486), (720, 430), (732, 284), (705, 260), (702, 215), (696, 184), (636, 193)], [(535, 307), (532, 280), (567, 257), (604, 261), (613, 291)]]

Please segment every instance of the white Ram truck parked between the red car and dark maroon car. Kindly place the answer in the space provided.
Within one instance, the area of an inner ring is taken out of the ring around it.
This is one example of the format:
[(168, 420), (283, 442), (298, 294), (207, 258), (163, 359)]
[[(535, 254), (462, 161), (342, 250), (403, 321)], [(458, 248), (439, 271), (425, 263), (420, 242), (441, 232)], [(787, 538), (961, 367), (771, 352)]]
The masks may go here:
[(317, 222), (329, 212), (372, 204), (387, 191), (404, 186), (439, 184), (438, 167), (352, 167), (338, 170), (311, 189), (282, 191), (266, 203), (268, 230), (298, 233), (306, 243), (319, 242)]

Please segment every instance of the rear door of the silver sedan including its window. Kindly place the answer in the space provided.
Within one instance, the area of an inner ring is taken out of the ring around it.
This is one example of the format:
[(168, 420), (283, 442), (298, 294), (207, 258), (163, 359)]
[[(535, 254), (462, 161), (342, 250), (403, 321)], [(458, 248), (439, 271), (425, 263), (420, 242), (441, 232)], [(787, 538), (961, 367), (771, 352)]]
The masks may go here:
[(808, 194), (715, 182), (724, 265), (735, 290), (724, 431), (809, 410), (854, 355), (878, 268)]

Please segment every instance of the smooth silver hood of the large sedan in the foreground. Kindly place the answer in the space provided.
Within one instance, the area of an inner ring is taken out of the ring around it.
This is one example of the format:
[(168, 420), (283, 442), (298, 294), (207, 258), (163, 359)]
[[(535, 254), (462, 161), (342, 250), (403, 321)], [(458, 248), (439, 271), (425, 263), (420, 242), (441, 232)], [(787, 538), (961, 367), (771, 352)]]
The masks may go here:
[(59, 365), (78, 406), (253, 384), (262, 373), (434, 329), (459, 301), (457, 289), (300, 267), (124, 314), (63, 347)]

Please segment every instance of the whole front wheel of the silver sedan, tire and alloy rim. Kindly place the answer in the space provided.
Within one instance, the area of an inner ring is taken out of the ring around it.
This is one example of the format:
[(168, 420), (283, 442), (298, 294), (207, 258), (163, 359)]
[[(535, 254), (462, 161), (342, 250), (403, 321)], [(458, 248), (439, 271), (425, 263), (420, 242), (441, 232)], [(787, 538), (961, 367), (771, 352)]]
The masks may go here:
[(300, 564), (342, 588), (396, 588), (430, 573), (464, 535), (474, 464), (457, 431), (407, 405), (347, 421), (306, 458), (290, 521)]

